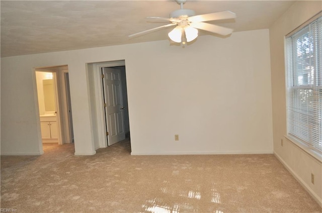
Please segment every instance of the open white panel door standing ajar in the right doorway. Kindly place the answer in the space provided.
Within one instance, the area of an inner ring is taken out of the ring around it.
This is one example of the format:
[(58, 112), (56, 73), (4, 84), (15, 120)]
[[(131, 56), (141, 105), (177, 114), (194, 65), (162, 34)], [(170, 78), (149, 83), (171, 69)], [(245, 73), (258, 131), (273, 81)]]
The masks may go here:
[(103, 74), (107, 141), (111, 146), (125, 139), (122, 81), (118, 69), (104, 67)]

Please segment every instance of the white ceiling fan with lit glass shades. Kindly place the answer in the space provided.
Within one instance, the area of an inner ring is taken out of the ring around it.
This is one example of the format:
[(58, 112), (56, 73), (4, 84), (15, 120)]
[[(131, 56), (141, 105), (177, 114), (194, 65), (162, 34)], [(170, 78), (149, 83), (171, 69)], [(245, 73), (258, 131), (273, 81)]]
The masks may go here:
[(182, 44), (186, 44), (186, 42), (190, 42), (196, 39), (198, 37), (198, 29), (216, 33), (222, 36), (226, 36), (232, 33), (233, 30), (230, 28), (225, 28), (204, 22), (223, 19), (234, 19), (236, 18), (236, 14), (230, 11), (223, 11), (195, 16), (195, 12), (193, 10), (183, 9), (183, 4), (186, 3), (186, 0), (176, 0), (176, 2), (180, 5), (180, 10), (171, 12), (170, 18), (146, 17), (151, 21), (171, 22), (170, 24), (129, 35), (129, 38), (134, 38), (172, 26), (177, 27), (175, 27), (168, 34), (169, 38), (177, 43), (182, 42)]

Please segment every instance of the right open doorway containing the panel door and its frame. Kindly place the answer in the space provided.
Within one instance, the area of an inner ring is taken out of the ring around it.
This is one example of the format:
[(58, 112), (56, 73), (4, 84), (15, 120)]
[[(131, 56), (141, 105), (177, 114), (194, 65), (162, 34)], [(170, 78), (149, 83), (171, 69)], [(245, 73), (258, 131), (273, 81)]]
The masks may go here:
[(88, 75), (95, 149), (129, 139), (125, 61), (90, 63)]

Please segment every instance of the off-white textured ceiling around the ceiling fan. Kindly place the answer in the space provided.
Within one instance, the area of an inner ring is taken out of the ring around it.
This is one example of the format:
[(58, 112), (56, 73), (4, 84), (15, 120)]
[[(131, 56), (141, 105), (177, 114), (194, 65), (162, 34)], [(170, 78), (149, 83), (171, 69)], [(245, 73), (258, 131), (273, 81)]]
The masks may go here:
[[(232, 11), (235, 20), (211, 24), (234, 32), (267, 29), (294, 1), (188, 1), (196, 15)], [(134, 39), (128, 35), (167, 23), (175, 1), (1, 1), (1, 57), (166, 40), (172, 28)], [(213, 35), (200, 32), (200, 35)]]

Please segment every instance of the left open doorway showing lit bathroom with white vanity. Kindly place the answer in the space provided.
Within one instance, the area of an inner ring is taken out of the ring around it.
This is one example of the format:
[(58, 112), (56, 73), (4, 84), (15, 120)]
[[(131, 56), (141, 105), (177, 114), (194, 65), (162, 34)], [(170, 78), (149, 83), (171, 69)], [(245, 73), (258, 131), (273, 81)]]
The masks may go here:
[(42, 143), (73, 143), (68, 66), (35, 69)]

